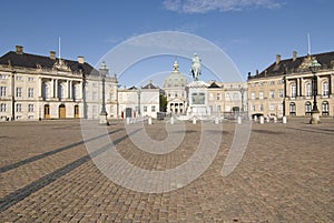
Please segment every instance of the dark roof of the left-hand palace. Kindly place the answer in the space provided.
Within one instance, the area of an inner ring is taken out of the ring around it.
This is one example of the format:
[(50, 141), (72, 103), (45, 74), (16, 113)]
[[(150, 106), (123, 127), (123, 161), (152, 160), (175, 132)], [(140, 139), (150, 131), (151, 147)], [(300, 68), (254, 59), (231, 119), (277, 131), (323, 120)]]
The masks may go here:
[[(12, 67), (21, 67), (21, 68), (37, 68), (41, 65), (41, 68), (52, 69), (56, 61), (59, 59), (51, 59), (50, 57), (45, 55), (36, 55), (30, 53), (17, 53), (13, 51), (9, 51), (4, 55), (0, 58), (0, 64), (8, 65), (9, 63)], [(91, 67), (89, 63), (79, 63), (78, 61), (65, 60), (61, 59), (73, 72), (78, 72), (82, 70), (85, 74), (97, 74), (97, 70)]]

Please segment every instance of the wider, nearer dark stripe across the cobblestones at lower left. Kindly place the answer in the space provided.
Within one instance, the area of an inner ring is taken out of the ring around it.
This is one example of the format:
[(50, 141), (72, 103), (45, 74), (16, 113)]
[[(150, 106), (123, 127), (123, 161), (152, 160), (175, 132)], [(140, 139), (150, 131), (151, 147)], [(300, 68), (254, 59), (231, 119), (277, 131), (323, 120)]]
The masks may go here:
[[(50, 183), (52, 183), (53, 181), (58, 180), (59, 178), (66, 175), (67, 173), (69, 173), (70, 171), (77, 169), (78, 166), (80, 166), (81, 164), (86, 163), (87, 161), (91, 160), (91, 158), (95, 158), (104, 152), (106, 152), (108, 149), (110, 149), (110, 146), (114, 146), (118, 143), (120, 143), (121, 141), (126, 140), (127, 138), (129, 138), (129, 135), (137, 133), (138, 131), (140, 131), (141, 129), (137, 129), (115, 141), (112, 141), (112, 144), (107, 144), (104, 145), (101, 148), (99, 148), (97, 151), (85, 155), (56, 171), (53, 171), (52, 173), (49, 173), (42, 178), (40, 178), (39, 180), (21, 187), (18, 189), (17, 191), (3, 196), (0, 199), (0, 212), (3, 212), (6, 210), (8, 210), (9, 207), (11, 207), (12, 205), (19, 203), (21, 200), (26, 199), (27, 196), (29, 196), (30, 194), (39, 191), (40, 189), (49, 185)], [(99, 135), (101, 136), (101, 135)]]

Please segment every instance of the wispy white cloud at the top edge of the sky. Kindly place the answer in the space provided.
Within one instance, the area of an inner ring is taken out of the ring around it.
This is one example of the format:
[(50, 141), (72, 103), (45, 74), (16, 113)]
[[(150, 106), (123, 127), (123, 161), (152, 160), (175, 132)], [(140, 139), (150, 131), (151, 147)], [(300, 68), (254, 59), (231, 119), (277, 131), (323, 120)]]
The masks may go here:
[(274, 9), (282, 7), (283, 2), (277, 2), (277, 0), (164, 0), (163, 4), (165, 9), (180, 13), (205, 13), (213, 10)]

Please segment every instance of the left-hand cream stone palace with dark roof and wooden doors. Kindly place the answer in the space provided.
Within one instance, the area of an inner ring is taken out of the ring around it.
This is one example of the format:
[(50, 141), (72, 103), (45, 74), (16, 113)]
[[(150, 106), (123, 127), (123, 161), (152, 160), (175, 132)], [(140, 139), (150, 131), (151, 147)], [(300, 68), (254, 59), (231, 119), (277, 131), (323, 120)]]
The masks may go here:
[[(117, 78), (106, 78), (109, 116), (117, 115)], [(85, 62), (23, 52), (17, 45), (0, 58), (1, 120), (98, 118), (101, 99), (99, 71)]]

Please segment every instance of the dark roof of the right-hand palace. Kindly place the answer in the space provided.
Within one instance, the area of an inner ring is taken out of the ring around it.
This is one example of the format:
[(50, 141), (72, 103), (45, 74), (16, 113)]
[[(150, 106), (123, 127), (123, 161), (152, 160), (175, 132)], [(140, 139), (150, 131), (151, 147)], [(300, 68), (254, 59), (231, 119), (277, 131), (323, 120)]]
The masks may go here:
[(287, 73), (299, 73), (305, 72), (306, 70), (308, 71), (308, 67), (305, 62), (307, 62), (307, 59), (311, 59), (313, 57), (315, 57), (316, 60), (322, 64), (321, 69), (330, 69), (334, 67), (334, 51), (332, 51), (313, 55), (304, 55), (296, 58), (296, 60), (293, 60), (292, 58), (281, 60), (278, 64), (274, 62), (259, 74), (248, 77), (248, 79), (282, 75)]

